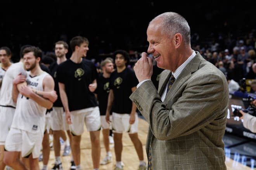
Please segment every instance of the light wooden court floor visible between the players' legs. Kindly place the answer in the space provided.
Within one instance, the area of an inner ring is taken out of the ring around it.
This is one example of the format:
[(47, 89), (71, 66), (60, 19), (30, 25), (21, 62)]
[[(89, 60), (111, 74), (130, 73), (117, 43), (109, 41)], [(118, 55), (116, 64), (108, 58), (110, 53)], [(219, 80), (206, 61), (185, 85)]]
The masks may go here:
[[(147, 155), (145, 151), (145, 143), (146, 143), (146, 137), (147, 137), (147, 131), (148, 131), (148, 124), (144, 119), (139, 118), (139, 124), (138, 124), (138, 135), (140, 140), (142, 141), (142, 145), (144, 148), (144, 160), (147, 162)], [(101, 155), (100, 160), (102, 160), (106, 156), (106, 150), (104, 148), (103, 139), (102, 139), (102, 133), (100, 134), (100, 140), (101, 140)], [(100, 170), (113, 170), (115, 165), (115, 153), (114, 153), (114, 145), (110, 146), (111, 152), (112, 152), (112, 162), (107, 165), (100, 165)], [(62, 155), (61, 151), (61, 155)], [(62, 166), (64, 170), (70, 169), (70, 160), (71, 156), (62, 156)], [(122, 152), (122, 161), (124, 163), (124, 170), (137, 170), (139, 165), (139, 160), (137, 153), (133, 147), (133, 144), (131, 143), (131, 140), (127, 133), (123, 134), (123, 152)], [(48, 169), (52, 168), (54, 166), (55, 157), (54, 157), (54, 151), (50, 151), (50, 160), (48, 163)], [(251, 168), (242, 165), (239, 162), (235, 162), (230, 158), (226, 158), (226, 165), (227, 170), (252, 170)], [(40, 162), (40, 167), (43, 167), (43, 163)], [(93, 170), (92, 166), (92, 157), (91, 157), (91, 145), (90, 145), (90, 135), (86, 130), (82, 135), (81, 140), (81, 168), (83, 170)]]

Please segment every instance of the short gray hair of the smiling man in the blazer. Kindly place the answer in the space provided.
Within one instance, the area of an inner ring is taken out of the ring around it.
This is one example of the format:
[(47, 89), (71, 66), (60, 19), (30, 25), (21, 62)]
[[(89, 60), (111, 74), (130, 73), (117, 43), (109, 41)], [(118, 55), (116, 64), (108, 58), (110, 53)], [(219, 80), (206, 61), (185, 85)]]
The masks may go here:
[(171, 38), (176, 33), (180, 33), (185, 44), (190, 44), (190, 27), (187, 20), (182, 17), (182, 15), (176, 12), (165, 12), (156, 16), (149, 24), (157, 19), (161, 19), (161, 34), (166, 34)]

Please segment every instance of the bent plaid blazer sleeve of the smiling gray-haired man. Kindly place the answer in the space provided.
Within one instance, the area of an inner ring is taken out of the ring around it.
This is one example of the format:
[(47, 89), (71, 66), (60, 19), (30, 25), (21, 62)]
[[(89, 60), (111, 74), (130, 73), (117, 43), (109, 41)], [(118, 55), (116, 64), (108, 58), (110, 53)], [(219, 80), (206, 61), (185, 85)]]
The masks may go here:
[[(172, 103), (170, 108), (161, 101), (151, 81), (142, 83), (130, 99), (141, 109), (153, 135), (159, 140), (185, 136), (209, 124), (216, 128), (220, 119), (219, 130), (222, 131), (228, 102), (227, 81), (223, 79), (215, 73), (190, 77), (167, 101)], [(214, 122), (214, 119), (218, 121)]]

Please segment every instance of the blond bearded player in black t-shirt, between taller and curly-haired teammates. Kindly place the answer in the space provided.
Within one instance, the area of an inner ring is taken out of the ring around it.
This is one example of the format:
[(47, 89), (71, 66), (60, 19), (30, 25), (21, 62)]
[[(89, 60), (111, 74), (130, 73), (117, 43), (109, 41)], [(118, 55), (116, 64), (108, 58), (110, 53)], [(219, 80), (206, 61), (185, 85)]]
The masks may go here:
[(106, 149), (106, 157), (100, 162), (100, 165), (106, 165), (112, 161), (112, 154), (109, 150), (109, 123), (106, 122), (107, 98), (109, 96), (109, 77), (114, 71), (112, 58), (106, 58), (100, 63), (103, 73), (97, 78), (97, 88), (95, 95), (99, 102), (100, 121), (102, 125), (103, 142)]

